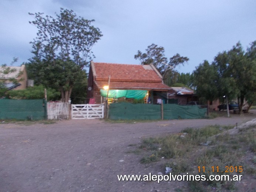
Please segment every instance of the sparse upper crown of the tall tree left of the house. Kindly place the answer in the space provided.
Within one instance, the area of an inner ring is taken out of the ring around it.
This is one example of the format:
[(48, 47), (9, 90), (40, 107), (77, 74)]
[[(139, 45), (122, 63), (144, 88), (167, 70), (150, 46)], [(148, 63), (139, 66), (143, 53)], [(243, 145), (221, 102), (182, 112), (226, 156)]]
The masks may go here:
[[(74, 11), (60, 9), (60, 13), (43, 17), (43, 13), (35, 13), (34, 21), (30, 21), (38, 29), (37, 37), (32, 44), (37, 48), (37, 57), (44, 57), (54, 62), (56, 57), (62, 61), (71, 59), (80, 68), (92, 59), (92, 46), (102, 36), (99, 28), (92, 25), (94, 20), (77, 17)], [(40, 59), (41, 60), (41, 59)]]

